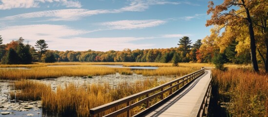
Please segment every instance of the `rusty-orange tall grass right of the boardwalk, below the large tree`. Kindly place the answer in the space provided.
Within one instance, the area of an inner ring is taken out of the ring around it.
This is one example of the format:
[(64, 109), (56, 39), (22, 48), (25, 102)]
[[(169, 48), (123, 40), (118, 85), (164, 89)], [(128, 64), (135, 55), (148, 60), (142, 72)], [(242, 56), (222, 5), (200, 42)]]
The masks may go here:
[(243, 69), (213, 70), (219, 93), (229, 95), (229, 113), (235, 117), (268, 116), (268, 76)]

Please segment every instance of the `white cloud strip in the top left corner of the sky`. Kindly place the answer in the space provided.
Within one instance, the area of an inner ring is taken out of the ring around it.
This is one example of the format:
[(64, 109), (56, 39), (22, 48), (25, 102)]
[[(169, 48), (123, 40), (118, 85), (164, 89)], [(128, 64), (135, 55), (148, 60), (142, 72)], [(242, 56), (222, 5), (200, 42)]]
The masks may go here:
[(77, 0), (0, 0), (0, 10), (12, 8), (36, 8), (40, 3), (58, 3), (66, 7), (81, 8), (82, 5)]

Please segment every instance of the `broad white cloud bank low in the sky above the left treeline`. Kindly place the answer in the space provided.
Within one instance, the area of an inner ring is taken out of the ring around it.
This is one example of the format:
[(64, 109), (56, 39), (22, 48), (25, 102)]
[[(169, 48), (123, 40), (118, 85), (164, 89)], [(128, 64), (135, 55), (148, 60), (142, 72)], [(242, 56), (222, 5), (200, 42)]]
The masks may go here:
[(177, 38), (182, 37), (181, 34), (172, 35), (156, 35), (155, 37), (102, 37), (91, 38), (88, 36), (82, 37), (83, 34), (94, 32), (76, 30), (66, 25), (22, 25), (22, 26), (10, 26), (7, 28), (1, 28), (3, 42), (9, 43), (11, 40), (17, 40), (19, 37), (23, 37), (25, 41), (29, 41), (29, 44), (34, 45), (39, 39), (44, 39), (48, 43), (50, 50), (74, 50), (85, 51), (88, 49), (96, 51), (108, 51), (108, 50), (123, 50), (129, 49), (149, 49), (155, 44), (153, 43), (135, 43), (133, 41), (143, 39), (159, 39), (159, 38)]

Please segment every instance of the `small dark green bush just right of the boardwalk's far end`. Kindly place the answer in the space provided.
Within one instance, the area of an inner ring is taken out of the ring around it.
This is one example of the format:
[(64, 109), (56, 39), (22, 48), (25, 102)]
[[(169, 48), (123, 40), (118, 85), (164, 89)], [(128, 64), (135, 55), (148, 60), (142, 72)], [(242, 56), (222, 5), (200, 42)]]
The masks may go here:
[(215, 65), (216, 69), (225, 70), (224, 63), (226, 63), (226, 59), (224, 59), (224, 54), (215, 54), (212, 58), (212, 63)]

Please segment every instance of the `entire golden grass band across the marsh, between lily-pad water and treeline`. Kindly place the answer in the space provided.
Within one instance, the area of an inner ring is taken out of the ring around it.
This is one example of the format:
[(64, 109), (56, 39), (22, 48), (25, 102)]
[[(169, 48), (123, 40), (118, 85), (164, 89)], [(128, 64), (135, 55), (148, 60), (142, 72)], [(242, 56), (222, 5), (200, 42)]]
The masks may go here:
[[(98, 64), (117, 64), (116, 62), (95, 62)], [(85, 64), (95, 64), (89, 62), (60, 62), (60, 63), (40, 63), (42, 67), (31, 67), (30, 69), (0, 69), (0, 79), (42, 79), (42, 78), (59, 78), (63, 76), (67, 77), (83, 77), (83, 76), (98, 76), (98, 75), (108, 75), (120, 73), (123, 75), (132, 75), (133, 71), (129, 68), (110, 68), (105, 66), (91, 66)], [(49, 67), (45, 65), (63, 65)], [(64, 66), (64, 65), (74, 65), (81, 64), (77, 66)], [(83, 65), (82, 65), (83, 64)], [(125, 63), (137, 65), (151, 65), (151, 66), (161, 66), (169, 65), (169, 63)], [(36, 64), (32, 64), (36, 65)], [(171, 65), (171, 63), (170, 63)], [(19, 65), (20, 66), (20, 65)], [(29, 65), (30, 66), (30, 65)], [(165, 75), (176, 75), (182, 76), (199, 70), (203, 66), (211, 66), (207, 63), (180, 63), (180, 67), (159, 67), (157, 70), (134, 70), (136, 74), (142, 74), (144, 76), (165, 76)], [(14, 66), (15, 67), (15, 66)]]

